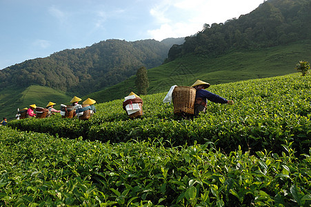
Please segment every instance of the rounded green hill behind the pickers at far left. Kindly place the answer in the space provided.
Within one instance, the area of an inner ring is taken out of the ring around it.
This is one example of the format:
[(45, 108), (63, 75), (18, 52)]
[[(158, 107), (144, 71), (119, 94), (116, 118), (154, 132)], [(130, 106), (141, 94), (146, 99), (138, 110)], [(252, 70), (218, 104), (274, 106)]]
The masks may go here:
[(44, 86), (29, 86), (28, 88), (10, 88), (2, 90), (0, 95), (0, 117), (13, 118), (17, 108), (29, 107), (35, 103), (37, 106), (45, 107), (49, 101), (57, 103), (68, 103), (72, 97)]

